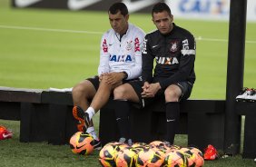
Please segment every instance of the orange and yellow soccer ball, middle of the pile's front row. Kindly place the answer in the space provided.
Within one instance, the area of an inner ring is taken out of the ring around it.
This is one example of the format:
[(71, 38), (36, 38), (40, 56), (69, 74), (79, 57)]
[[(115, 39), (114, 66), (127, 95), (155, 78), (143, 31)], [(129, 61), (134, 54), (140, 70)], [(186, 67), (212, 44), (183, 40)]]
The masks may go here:
[(153, 149), (144, 149), (138, 153), (136, 160), (136, 167), (142, 166), (161, 166), (163, 158), (160, 152), (154, 151)]

